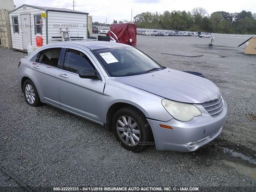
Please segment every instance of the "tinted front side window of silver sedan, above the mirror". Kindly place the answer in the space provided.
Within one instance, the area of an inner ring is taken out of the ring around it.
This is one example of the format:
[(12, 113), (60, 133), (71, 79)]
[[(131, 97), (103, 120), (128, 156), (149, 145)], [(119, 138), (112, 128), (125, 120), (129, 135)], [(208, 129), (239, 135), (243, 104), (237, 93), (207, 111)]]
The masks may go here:
[(92, 62), (84, 53), (74, 49), (66, 50), (64, 70), (79, 74), (81, 70), (92, 68), (94, 69)]

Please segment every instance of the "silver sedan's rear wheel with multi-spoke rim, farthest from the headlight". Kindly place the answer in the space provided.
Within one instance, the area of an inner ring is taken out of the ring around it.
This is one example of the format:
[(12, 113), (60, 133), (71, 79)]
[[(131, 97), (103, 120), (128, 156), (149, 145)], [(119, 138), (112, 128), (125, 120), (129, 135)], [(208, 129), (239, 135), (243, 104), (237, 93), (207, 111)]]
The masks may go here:
[(23, 85), (23, 93), (26, 103), (33, 107), (38, 107), (41, 104), (36, 86), (31, 80), (26, 80)]

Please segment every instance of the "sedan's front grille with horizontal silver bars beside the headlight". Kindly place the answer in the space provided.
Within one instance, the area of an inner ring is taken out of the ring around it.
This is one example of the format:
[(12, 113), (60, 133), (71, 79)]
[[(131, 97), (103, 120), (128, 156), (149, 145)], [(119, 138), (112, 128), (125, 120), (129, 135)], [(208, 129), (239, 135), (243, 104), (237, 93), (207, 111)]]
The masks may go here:
[(218, 116), (224, 106), (221, 94), (219, 93), (216, 96), (216, 99), (202, 103), (202, 106), (212, 117)]

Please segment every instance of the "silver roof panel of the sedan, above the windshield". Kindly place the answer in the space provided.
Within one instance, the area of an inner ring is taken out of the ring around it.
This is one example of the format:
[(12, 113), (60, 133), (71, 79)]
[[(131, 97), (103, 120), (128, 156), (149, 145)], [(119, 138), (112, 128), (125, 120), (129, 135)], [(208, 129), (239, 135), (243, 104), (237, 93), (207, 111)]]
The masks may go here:
[(103, 49), (103, 48), (125, 48), (132, 47), (130, 45), (116, 43), (116, 42), (107, 42), (107, 41), (95, 41), (95, 40), (81, 40), (81, 41), (69, 41), (69, 42), (60, 42), (54, 44), (48, 44), (46, 46), (85, 46), (90, 50), (94, 49)]

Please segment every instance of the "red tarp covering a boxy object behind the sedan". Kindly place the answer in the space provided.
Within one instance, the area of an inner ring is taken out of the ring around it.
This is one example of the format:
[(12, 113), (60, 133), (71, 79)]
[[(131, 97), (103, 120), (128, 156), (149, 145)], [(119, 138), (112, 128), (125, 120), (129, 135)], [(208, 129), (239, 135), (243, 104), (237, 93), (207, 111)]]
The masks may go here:
[(137, 25), (133, 23), (111, 24), (110, 31), (106, 35), (110, 36), (110, 40), (135, 47), (137, 43), (136, 30)]

